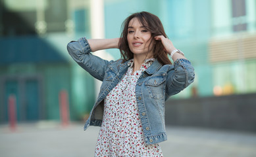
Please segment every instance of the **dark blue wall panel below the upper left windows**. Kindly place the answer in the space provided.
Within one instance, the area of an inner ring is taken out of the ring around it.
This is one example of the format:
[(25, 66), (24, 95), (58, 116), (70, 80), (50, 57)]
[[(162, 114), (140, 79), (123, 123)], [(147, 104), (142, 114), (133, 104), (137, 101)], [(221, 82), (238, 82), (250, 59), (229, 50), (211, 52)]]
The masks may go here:
[(36, 36), (0, 38), (0, 64), (67, 62), (51, 45)]

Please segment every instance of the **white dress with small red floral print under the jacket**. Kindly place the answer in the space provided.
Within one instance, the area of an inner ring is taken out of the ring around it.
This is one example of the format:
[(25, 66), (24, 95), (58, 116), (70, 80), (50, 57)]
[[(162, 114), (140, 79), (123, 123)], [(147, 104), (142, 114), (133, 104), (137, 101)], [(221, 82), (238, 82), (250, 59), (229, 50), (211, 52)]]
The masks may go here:
[(154, 60), (145, 60), (133, 74), (131, 60), (124, 78), (105, 98), (95, 156), (163, 156), (159, 144), (145, 145), (135, 94), (137, 80)]

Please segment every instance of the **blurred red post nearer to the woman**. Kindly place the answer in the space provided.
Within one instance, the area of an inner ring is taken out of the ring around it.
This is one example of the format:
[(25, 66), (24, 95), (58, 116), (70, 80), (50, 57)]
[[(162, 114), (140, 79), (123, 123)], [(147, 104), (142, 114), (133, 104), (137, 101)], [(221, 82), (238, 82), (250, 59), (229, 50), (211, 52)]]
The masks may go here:
[(59, 106), (60, 106), (60, 116), (63, 126), (68, 126), (69, 124), (69, 105), (68, 105), (68, 94), (66, 90), (61, 90), (59, 93)]

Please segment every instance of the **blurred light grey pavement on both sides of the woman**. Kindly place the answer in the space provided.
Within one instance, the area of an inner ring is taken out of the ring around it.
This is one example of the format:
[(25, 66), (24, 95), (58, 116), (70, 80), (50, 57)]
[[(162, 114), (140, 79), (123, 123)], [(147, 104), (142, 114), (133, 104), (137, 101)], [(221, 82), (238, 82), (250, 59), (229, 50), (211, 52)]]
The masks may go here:
[[(165, 157), (255, 157), (256, 133), (167, 127), (161, 143)], [(83, 124), (64, 128), (57, 122), (19, 124), (16, 131), (0, 125), (1, 157), (93, 156), (98, 127), (83, 131)]]

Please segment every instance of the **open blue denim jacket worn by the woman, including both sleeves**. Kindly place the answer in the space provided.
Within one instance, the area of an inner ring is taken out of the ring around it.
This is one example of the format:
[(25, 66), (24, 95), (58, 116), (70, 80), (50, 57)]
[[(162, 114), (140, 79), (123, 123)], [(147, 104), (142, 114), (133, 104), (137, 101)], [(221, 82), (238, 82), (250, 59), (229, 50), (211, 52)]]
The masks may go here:
[[(126, 74), (128, 61), (107, 61), (91, 54), (85, 37), (67, 46), (70, 56), (88, 73), (102, 82), (99, 96), (86, 121), (88, 126), (101, 126), (104, 99)], [(138, 79), (136, 99), (146, 145), (167, 139), (165, 131), (165, 101), (193, 82), (194, 71), (190, 61), (178, 59), (174, 65), (161, 65), (155, 60)]]

